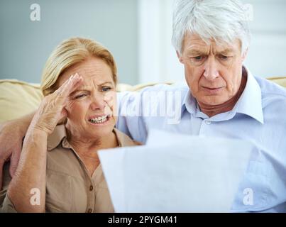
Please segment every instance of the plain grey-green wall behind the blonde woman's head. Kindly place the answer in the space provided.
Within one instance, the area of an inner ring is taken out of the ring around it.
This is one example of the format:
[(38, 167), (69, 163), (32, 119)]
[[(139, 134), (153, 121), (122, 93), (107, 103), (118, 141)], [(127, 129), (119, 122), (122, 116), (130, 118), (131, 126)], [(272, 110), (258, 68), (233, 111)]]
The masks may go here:
[[(31, 4), (40, 21), (31, 21)], [(93, 38), (114, 54), (119, 82), (138, 82), (137, 1), (1, 0), (0, 79), (40, 82), (43, 65), (62, 40)]]

